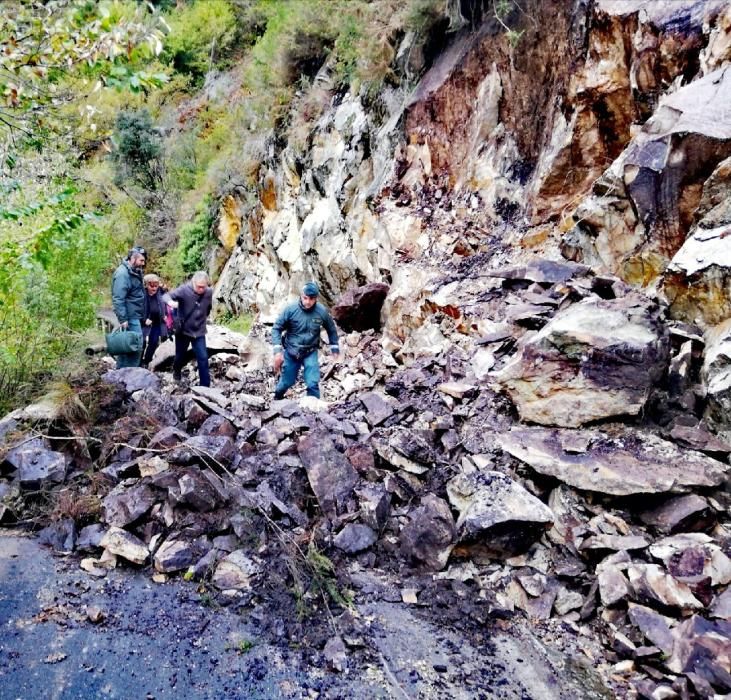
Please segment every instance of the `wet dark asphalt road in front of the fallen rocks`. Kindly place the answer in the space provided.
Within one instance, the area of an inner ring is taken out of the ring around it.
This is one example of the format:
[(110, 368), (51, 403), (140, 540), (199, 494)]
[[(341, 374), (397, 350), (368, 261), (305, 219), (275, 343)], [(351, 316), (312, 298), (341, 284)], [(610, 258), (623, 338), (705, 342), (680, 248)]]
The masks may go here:
[(474, 646), (405, 605), (368, 603), (356, 614), (375, 662), (337, 674), (206, 601), (149, 571), (91, 578), (0, 530), (0, 700), (611, 697), (518, 630)]

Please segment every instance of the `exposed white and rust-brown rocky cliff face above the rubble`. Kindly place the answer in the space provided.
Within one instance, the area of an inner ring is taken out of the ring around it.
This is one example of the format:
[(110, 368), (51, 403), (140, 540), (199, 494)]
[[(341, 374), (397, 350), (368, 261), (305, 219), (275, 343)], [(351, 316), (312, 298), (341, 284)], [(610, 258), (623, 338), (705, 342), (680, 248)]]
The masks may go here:
[[(717, 200), (724, 182), (714, 170), (731, 148), (729, 12), (722, 0), (533, 2), (504, 21), (485, 11), (439, 38), (444, 50), (415, 84), (425, 52), (404, 37), (400, 86), (375, 99), (334, 94), (325, 66), (315, 88), (330, 107), (306, 145), (272, 156), (253, 207), (224, 201), (222, 219), (235, 212), (226, 245), (239, 235), (219, 298), (266, 318), (309, 277), (329, 300), (390, 282), (385, 321), (399, 345), (408, 331), (396, 329), (414, 325), (399, 309), (425, 312), (427, 281), (477, 253), (560, 249), (657, 281), (701, 218), (706, 180)], [(698, 271), (683, 260), (668, 269), (668, 294), (687, 317), (703, 303), (686, 298)]]

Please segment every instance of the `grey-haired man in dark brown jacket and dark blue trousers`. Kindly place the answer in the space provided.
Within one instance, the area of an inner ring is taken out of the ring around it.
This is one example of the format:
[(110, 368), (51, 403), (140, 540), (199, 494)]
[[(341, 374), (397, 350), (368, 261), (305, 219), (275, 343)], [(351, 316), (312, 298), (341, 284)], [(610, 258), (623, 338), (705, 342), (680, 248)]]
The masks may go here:
[(198, 379), (201, 386), (211, 385), (208, 371), (208, 348), (206, 347), (206, 321), (213, 307), (213, 289), (209, 286), (208, 274), (199, 270), (190, 282), (180, 285), (165, 294), (165, 303), (178, 310), (181, 322), (180, 331), (175, 333), (175, 360), (173, 379), (180, 381), (181, 370), (185, 364), (185, 353), (193, 346), (198, 364)]

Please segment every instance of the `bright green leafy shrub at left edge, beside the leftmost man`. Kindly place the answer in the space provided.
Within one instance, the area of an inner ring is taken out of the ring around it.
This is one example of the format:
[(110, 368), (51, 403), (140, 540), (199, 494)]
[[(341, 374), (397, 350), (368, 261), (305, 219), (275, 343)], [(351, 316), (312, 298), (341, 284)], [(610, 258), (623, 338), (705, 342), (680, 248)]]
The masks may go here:
[(109, 247), (73, 194), (67, 186), (45, 203), (0, 212), (11, 216), (0, 228), (2, 410), (28, 400), (94, 322)]

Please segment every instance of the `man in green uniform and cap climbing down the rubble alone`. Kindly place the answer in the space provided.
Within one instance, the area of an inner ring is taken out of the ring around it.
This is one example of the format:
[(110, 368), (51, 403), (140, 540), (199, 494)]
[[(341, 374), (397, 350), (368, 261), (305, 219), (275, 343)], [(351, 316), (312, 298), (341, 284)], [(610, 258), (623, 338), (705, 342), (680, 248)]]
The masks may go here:
[(320, 347), (320, 332), (324, 327), (330, 343), (330, 352), (337, 356), (338, 332), (328, 310), (317, 301), (320, 290), (314, 282), (302, 287), (299, 301), (287, 306), (274, 322), (272, 343), (274, 344), (274, 372), (281, 370), (279, 382), (274, 389), (274, 398), (281, 399), (296, 381), (300, 368), (308, 396), (320, 398), (320, 363), (317, 350)]

